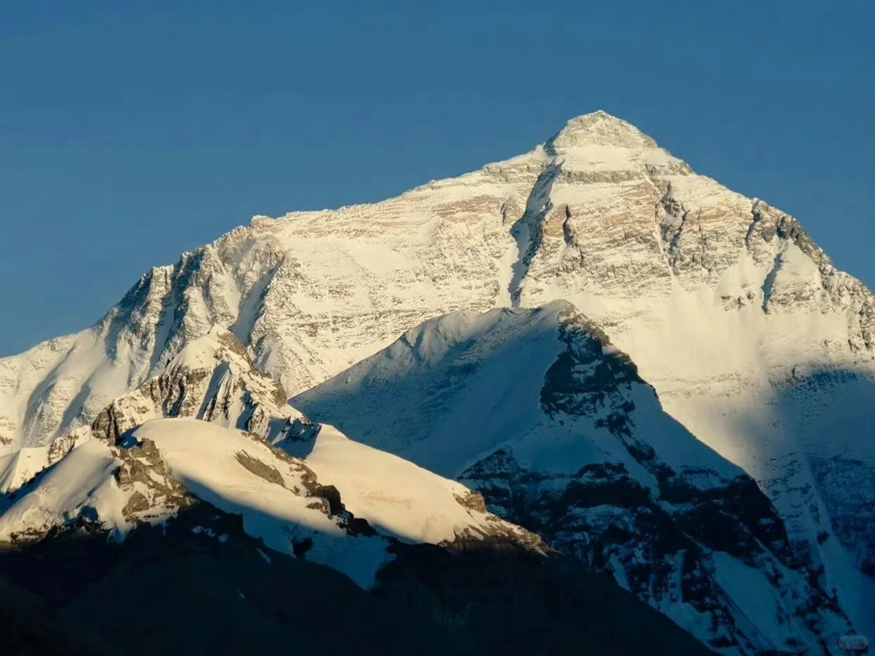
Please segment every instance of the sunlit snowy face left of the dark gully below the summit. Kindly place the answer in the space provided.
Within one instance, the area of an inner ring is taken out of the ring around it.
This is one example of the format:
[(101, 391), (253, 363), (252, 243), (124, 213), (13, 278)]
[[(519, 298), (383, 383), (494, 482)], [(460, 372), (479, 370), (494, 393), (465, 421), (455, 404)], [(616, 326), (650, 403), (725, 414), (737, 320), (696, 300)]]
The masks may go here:
[[(480, 172), (435, 199), (422, 189), (339, 213), (256, 217), (152, 269), (88, 331), (0, 359), (0, 454), (93, 421), (214, 325), (295, 393), (439, 312), (491, 307), (507, 296), (515, 253), (509, 224), (495, 217), (513, 220), (544, 157), (535, 150), (514, 164), (516, 200), (505, 198), (507, 174)], [(470, 205), (480, 183), (495, 198)]]

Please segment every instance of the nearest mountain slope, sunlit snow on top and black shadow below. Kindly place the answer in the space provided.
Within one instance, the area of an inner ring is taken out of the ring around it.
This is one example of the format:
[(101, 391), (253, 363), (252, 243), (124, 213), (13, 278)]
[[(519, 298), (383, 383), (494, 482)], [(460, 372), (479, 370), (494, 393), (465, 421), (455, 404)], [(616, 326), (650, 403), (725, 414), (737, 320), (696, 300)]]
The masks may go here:
[(0, 575), (105, 643), (88, 653), (710, 653), (464, 485), (330, 426), (273, 447), (209, 419), (95, 431), (0, 497)]

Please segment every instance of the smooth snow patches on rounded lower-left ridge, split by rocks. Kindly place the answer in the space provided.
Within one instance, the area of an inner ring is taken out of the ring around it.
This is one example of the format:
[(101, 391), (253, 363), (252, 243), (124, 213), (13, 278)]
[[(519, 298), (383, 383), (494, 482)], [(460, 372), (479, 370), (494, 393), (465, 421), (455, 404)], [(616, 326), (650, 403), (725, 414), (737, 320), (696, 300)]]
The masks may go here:
[[(363, 588), (373, 584), (376, 570), (389, 557), (383, 537), (347, 534), (336, 518), (319, 510), (321, 504), (313, 507), (314, 499), (305, 492), (304, 468), (252, 436), (186, 418), (145, 422), (132, 437), (155, 443), (172, 478), (199, 499), (241, 515), (246, 533), (271, 549), (294, 555), (293, 541), (309, 538), (308, 560), (338, 569)], [(247, 467), (242, 461), (254, 464)], [(458, 499), (469, 492), (464, 485), (354, 443), (331, 426), (320, 427), (305, 464), (318, 485), (337, 487), (346, 510), (381, 535), (437, 544), (463, 533), (521, 533), (462, 506)], [(253, 467), (263, 468), (262, 475)], [(96, 509), (102, 518), (118, 514), (105, 503)]]

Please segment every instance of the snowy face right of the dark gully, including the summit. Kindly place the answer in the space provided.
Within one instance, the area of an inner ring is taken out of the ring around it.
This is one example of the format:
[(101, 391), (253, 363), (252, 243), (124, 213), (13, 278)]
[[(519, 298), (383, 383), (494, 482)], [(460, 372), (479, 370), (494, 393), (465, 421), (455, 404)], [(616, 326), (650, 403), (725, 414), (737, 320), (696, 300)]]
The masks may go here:
[(670, 415), (760, 481), (875, 631), (872, 292), (765, 202), (599, 155), (655, 150), (625, 122), (584, 116), (552, 145), (561, 172), (520, 223), (520, 303), (566, 298), (605, 330)]

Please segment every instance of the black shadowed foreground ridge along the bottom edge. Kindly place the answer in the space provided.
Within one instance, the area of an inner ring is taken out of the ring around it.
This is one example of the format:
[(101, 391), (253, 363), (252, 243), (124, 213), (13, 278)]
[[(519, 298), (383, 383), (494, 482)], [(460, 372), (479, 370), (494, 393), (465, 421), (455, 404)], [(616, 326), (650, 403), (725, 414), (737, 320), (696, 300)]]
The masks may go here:
[(206, 503), (121, 544), (80, 523), (0, 553), (0, 653), (711, 654), (562, 556), (495, 540), (392, 551), (367, 592)]

